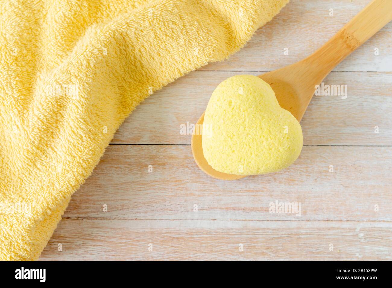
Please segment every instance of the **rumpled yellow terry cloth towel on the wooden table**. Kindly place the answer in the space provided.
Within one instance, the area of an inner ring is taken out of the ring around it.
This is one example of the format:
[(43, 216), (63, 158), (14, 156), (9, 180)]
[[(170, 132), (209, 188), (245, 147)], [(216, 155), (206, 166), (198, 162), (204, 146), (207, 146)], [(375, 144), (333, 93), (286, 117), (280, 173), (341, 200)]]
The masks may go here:
[(287, 2), (0, 1), (0, 259), (38, 259), (132, 110)]

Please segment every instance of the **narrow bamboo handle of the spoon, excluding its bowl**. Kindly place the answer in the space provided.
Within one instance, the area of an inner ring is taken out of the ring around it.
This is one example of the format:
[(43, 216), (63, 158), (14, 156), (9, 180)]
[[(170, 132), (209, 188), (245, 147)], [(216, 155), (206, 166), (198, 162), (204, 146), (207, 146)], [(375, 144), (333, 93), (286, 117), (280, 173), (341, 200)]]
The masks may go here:
[(323, 78), (352, 51), (392, 20), (392, 0), (373, 0), (327, 43), (303, 61)]

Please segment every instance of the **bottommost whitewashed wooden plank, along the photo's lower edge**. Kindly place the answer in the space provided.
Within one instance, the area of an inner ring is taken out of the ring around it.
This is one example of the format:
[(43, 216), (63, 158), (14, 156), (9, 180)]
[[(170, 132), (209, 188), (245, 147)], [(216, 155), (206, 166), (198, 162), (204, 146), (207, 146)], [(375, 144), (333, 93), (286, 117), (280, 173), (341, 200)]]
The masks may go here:
[(64, 219), (40, 260), (391, 260), (391, 235), (390, 222)]

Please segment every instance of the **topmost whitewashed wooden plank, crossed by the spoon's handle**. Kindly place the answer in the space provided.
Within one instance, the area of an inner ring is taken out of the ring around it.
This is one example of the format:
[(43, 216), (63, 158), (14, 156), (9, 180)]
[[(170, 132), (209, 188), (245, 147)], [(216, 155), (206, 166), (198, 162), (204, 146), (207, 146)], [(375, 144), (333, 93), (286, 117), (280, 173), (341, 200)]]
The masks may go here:
[[(370, 0), (291, 0), (272, 21), (256, 31), (238, 53), (201, 70), (271, 71), (295, 63), (321, 47)], [(333, 16), (330, 16), (333, 9)], [(392, 71), (392, 23), (387, 24), (335, 71)], [(289, 54), (284, 54), (284, 49)], [(375, 49), (378, 55), (375, 55)]]

